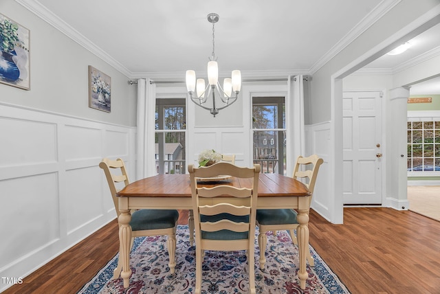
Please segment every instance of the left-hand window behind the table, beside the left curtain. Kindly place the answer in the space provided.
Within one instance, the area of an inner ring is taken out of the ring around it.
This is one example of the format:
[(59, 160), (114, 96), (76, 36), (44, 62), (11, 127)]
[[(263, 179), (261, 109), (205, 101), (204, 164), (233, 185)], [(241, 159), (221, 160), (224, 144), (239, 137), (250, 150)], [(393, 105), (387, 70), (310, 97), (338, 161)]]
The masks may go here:
[(184, 174), (185, 98), (157, 98), (155, 113), (155, 158), (157, 174)]

